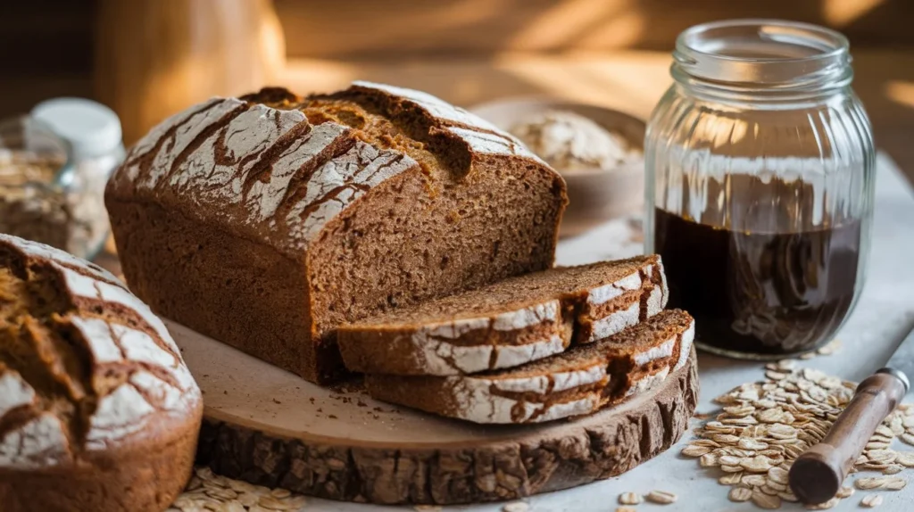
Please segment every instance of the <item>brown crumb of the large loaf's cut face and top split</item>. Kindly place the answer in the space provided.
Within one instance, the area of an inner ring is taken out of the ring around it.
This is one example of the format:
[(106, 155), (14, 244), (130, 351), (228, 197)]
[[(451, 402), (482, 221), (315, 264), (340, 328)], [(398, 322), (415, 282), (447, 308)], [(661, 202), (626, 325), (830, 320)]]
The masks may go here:
[[(296, 106), (312, 123), (332, 120), (350, 127), (357, 139), (406, 153), (420, 163), (424, 176), (402, 189), (378, 190), (377, 200), (364, 204), (356, 218), (325, 234), (324, 240), (335, 242), (314, 247), (314, 284), (329, 292), (326, 300), (315, 301), (319, 331), (551, 265), (540, 255), (551, 254), (555, 226), (550, 219), (558, 211), (530, 207), (553, 204), (558, 210), (556, 190), (536, 178), (541, 170), (531, 165), (527, 175), (498, 170), (468, 175), (471, 153), (450, 149), (452, 138), (436, 135), (432, 121), (406, 105), (344, 91)], [(505, 193), (517, 189), (525, 193)], [(418, 207), (404, 203), (402, 193), (420, 198)], [(461, 223), (472, 227), (460, 228)], [(476, 235), (455, 237), (457, 230)], [(535, 246), (531, 239), (537, 240)], [(340, 254), (349, 256), (345, 266), (336, 261)], [(470, 259), (479, 261), (461, 265)]]

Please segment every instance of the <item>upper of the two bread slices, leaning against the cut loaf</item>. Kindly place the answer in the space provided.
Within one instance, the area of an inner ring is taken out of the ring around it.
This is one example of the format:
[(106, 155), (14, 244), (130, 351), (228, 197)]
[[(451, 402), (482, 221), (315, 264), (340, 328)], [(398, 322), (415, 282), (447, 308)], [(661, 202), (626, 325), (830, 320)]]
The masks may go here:
[(498, 370), (605, 338), (666, 303), (659, 256), (553, 268), (343, 326), (351, 371), (457, 375)]

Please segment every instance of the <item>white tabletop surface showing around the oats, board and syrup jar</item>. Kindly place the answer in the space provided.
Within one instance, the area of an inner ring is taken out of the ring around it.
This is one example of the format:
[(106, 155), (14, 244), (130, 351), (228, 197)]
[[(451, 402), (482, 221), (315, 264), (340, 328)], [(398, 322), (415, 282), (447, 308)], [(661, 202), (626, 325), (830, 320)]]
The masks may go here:
[[(877, 370), (895, 350), (898, 342), (914, 327), (914, 192), (898, 172), (895, 164), (880, 156), (877, 171), (876, 219), (873, 227), (872, 252), (863, 295), (845, 326), (838, 333), (843, 349), (828, 357), (802, 361), (805, 366), (818, 368), (846, 379), (859, 381)], [(628, 221), (615, 221), (587, 235), (565, 240), (558, 249), (558, 263), (573, 265), (609, 257), (624, 257), (641, 251), (639, 240), (631, 240)], [(742, 382), (762, 378), (759, 363), (738, 362), (703, 354), (699, 358), (701, 403), (699, 412), (715, 409), (710, 400)], [(914, 399), (909, 397), (909, 400)], [(617, 497), (623, 492), (646, 494), (654, 489), (670, 491), (679, 496), (669, 506), (642, 504), (638, 512), (652, 510), (737, 512), (760, 510), (751, 503), (728, 501), (728, 486), (717, 484), (719, 470), (699, 467), (695, 459), (679, 455), (682, 441), (664, 455), (610, 480), (566, 491), (527, 498), (530, 512), (611, 512), (619, 507)], [(899, 444), (898, 449), (914, 450)], [(864, 474), (866, 475), (866, 474)], [(872, 474), (876, 475), (876, 474)], [(899, 474), (911, 484), (898, 492), (882, 492), (885, 502), (877, 510), (891, 512), (914, 511), (914, 469)], [(860, 510), (864, 493), (842, 501), (832, 510)], [(504, 504), (469, 507), (446, 507), (445, 511), (500, 511)], [(370, 507), (335, 503), (312, 498), (307, 510), (341, 512), (375, 512), (403, 510), (404, 507)], [(409, 510), (411, 507), (406, 507)], [(797, 504), (785, 503), (781, 510), (804, 510)]]

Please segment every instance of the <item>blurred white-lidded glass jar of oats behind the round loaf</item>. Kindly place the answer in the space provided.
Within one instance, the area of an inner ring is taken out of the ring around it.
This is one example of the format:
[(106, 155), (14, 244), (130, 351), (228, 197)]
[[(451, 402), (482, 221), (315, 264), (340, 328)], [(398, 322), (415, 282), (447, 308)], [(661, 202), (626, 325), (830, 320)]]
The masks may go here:
[(0, 233), (96, 256), (110, 230), (105, 184), (123, 156), (117, 116), (88, 99), (0, 121)]

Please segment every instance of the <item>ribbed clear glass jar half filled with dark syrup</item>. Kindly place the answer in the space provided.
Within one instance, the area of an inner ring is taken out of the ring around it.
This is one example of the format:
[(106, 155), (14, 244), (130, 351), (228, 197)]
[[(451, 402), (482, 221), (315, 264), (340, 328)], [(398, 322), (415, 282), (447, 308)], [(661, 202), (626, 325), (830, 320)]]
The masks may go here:
[(645, 248), (696, 344), (747, 359), (815, 350), (863, 286), (875, 183), (848, 43), (737, 20), (681, 34), (648, 124)]

